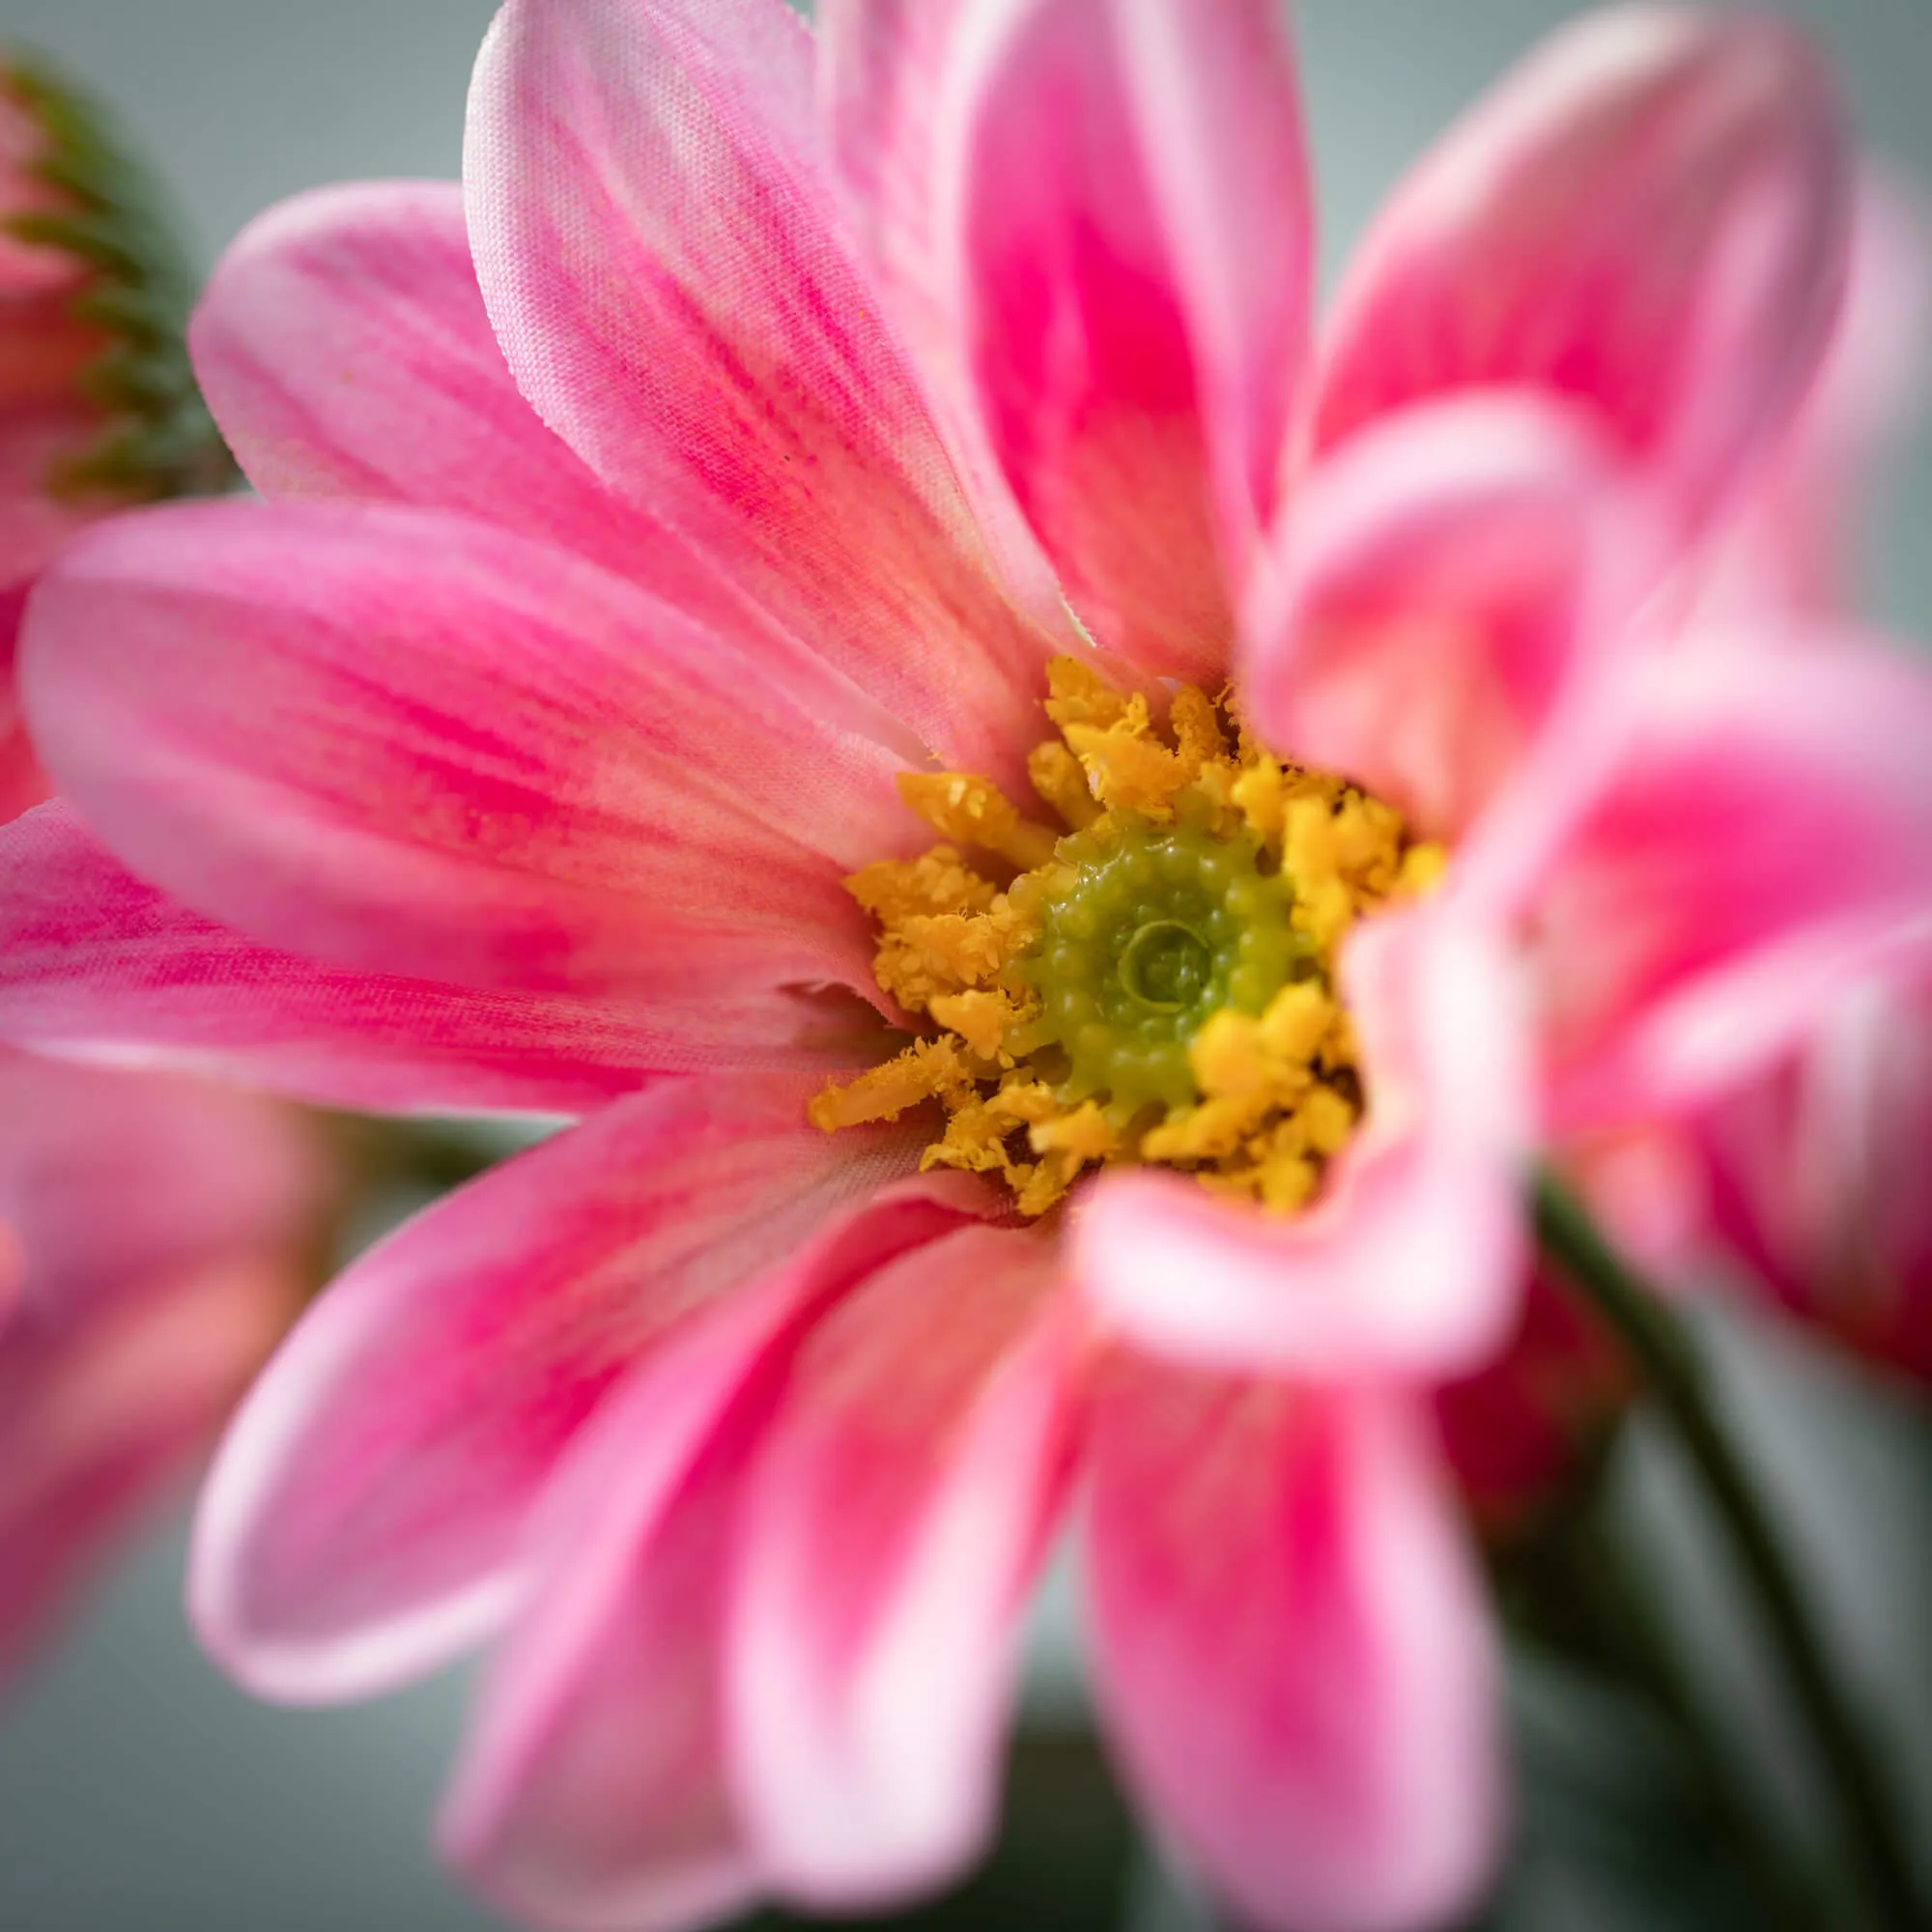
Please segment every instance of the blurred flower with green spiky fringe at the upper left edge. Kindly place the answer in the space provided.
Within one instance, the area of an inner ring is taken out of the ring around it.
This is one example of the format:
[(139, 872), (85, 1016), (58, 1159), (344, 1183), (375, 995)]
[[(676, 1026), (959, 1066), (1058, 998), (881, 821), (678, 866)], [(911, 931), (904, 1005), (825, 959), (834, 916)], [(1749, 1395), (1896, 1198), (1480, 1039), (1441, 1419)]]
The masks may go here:
[(191, 301), (151, 180), (0, 46), (0, 823), (46, 796), (14, 696), (35, 576), (93, 518), (232, 481), (182, 346)]

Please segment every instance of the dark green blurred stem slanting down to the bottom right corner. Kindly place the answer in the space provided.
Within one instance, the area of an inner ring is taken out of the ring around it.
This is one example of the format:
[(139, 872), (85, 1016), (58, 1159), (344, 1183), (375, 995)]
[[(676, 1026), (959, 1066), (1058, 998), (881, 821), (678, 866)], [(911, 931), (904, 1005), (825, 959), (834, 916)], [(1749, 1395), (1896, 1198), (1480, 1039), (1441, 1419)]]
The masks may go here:
[(1723, 1519), (1793, 1700), (1830, 1770), (1845, 1843), (1859, 1861), (1872, 1905), (1895, 1932), (1922, 1932), (1928, 1918), (1917, 1899), (1889, 1791), (1845, 1690), (1826, 1662), (1824, 1638), (1764, 1499), (1718, 1420), (1710, 1372), (1696, 1337), (1615, 1254), (1563, 1182), (1548, 1173), (1536, 1180), (1536, 1235), (1546, 1254), (1631, 1350), (1648, 1393)]

